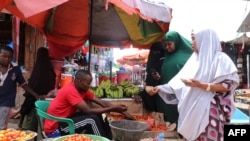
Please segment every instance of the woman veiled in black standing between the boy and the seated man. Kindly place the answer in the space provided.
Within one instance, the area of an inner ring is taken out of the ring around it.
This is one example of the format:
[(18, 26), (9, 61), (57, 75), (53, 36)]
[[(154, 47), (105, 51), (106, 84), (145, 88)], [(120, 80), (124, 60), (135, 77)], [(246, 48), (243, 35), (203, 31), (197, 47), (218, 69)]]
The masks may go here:
[[(36, 61), (28, 85), (39, 95), (47, 95), (55, 89), (55, 81), (56, 74), (49, 57), (49, 50), (45, 47), (40, 47), (37, 50)], [(38, 119), (34, 104), (36, 98), (28, 92), (25, 92), (24, 96), (25, 100), (20, 110), (19, 128), (37, 132)]]

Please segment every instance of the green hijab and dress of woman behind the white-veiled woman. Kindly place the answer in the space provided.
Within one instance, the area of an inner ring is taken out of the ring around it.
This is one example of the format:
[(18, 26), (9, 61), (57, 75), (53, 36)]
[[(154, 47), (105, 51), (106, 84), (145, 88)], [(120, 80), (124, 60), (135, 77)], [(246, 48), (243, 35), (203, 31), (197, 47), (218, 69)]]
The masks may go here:
[[(165, 37), (165, 41), (175, 43), (174, 52), (166, 52), (165, 59), (161, 67), (161, 84), (166, 84), (171, 80), (181, 68), (184, 66), (188, 58), (192, 54), (191, 42), (181, 36), (178, 32), (169, 31)], [(164, 120), (171, 123), (177, 123), (178, 110), (177, 104), (167, 104), (160, 96), (157, 95), (157, 111), (164, 113)]]

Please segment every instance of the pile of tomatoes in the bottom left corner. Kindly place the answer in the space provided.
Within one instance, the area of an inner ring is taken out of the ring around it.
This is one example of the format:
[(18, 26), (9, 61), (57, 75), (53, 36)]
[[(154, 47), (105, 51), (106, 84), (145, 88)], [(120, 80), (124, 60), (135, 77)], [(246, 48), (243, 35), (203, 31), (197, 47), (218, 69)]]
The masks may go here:
[(34, 132), (25, 132), (22, 130), (6, 129), (0, 130), (0, 141), (26, 141), (34, 138), (36, 134)]

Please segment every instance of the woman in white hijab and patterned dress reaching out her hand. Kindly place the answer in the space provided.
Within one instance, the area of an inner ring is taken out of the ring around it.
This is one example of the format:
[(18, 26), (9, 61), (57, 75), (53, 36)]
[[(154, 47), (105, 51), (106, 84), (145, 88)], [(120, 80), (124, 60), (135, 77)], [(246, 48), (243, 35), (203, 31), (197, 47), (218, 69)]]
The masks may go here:
[(223, 141), (224, 125), (235, 108), (237, 68), (222, 52), (213, 30), (192, 34), (192, 45), (194, 53), (168, 84), (146, 86), (146, 90), (150, 95), (158, 92), (166, 103), (178, 103), (177, 130), (188, 141)]

